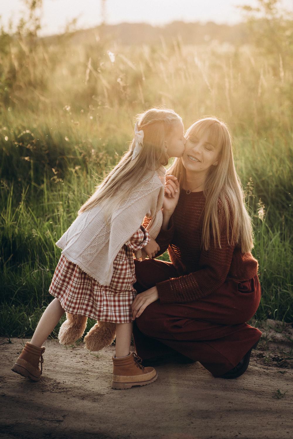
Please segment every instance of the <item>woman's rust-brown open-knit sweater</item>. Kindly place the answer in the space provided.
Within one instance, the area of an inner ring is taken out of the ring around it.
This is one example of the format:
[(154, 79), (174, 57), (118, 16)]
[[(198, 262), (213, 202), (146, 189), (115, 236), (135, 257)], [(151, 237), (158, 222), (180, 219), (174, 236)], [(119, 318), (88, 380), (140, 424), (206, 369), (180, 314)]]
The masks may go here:
[(169, 230), (156, 238), (160, 253), (168, 248), (178, 276), (156, 284), (160, 302), (192, 302), (217, 291), (227, 278), (248, 281), (257, 275), (257, 260), (251, 253), (241, 253), (238, 246), (228, 245), (227, 229), (221, 228), (221, 248), (210, 237), (210, 249), (201, 248), (203, 192), (181, 190), (178, 204), (170, 219)]

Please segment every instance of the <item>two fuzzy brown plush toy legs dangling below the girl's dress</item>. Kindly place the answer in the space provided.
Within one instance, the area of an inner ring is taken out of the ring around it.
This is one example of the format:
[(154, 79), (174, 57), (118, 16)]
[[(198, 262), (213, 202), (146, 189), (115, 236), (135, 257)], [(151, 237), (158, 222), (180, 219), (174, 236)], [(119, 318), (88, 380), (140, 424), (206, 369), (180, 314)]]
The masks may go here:
[[(61, 345), (71, 345), (81, 338), (87, 327), (87, 317), (66, 313), (66, 320), (61, 324), (58, 338)], [(98, 321), (88, 331), (83, 341), (89, 351), (100, 351), (113, 343), (116, 337), (116, 324)]]

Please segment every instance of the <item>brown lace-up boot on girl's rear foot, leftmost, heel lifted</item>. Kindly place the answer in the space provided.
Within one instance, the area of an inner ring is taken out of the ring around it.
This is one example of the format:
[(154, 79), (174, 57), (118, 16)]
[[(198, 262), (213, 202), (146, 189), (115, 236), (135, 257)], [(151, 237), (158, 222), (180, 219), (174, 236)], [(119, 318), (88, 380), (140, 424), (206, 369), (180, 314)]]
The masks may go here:
[[(25, 343), (22, 353), (15, 361), (11, 371), (22, 375), (25, 378), (30, 378), (33, 381), (40, 381), (43, 371), (43, 353), (45, 346), (31, 345), (29, 342)], [(41, 363), (41, 370), (39, 368)]]

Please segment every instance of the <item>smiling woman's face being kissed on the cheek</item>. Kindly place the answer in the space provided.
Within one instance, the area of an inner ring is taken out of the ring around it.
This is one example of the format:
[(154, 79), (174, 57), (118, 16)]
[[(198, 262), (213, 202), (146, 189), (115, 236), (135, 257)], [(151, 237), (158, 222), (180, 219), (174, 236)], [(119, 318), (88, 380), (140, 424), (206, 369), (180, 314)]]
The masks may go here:
[(210, 143), (208, 133), (201, 137), (190, 133), (186, 139), (182, 163), (190, 172), (207, 174), (211, 166), (217, 166), (219, 148)]

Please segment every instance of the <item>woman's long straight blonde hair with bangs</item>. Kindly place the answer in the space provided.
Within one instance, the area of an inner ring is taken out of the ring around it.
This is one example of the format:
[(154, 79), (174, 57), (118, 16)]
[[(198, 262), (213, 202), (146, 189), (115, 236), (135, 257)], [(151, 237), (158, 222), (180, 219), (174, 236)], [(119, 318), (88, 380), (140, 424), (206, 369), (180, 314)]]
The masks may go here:
[[(204, 184), (206, 203), (202, 246), (205, 250), (210, 247), (212, 232), (214, 244), (221, 248), (221, 218), (227, 228), (228, 243), (238, 244), (242, 253), (250, 252), (253, 248), (252, 226), (245, 207), (242, 185), (234, 166), (230, 131), (221, 119), (209, 116), (194, 122), (186, 131), (185, 137), (200, 138), (206, 133), (209, 142), (219, 148), (219, 155), (217, 166), (210, 167)], [(181, 186), (184, 184), (186, 172), (181, 158), (174, 160), (168, 173), (176, 176)]]

